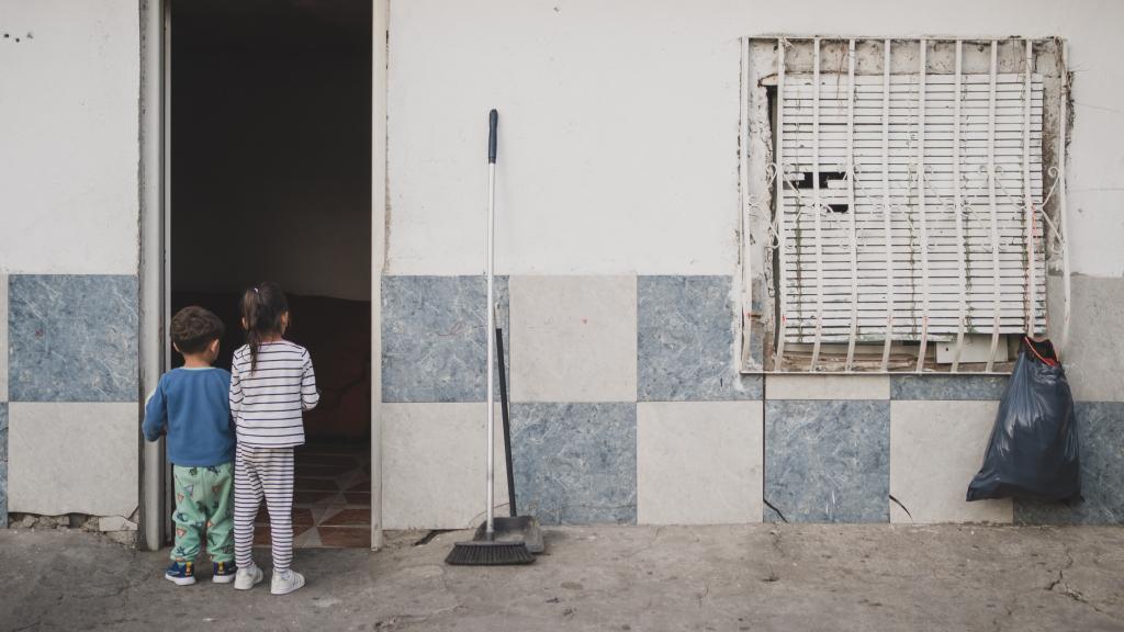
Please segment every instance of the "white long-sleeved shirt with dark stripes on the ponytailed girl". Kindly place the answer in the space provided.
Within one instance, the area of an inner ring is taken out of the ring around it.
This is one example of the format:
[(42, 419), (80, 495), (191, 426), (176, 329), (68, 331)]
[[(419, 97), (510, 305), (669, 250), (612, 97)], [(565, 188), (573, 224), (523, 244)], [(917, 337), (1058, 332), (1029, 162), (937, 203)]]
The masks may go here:
[(308, 350), (289, 341), (257, 347), (250, 370), (250, 345), (234, 352), (230, 365), (230, 415), (238, 443), (254, 448), (293, 448), (305, 443), (302, 410), (320, 400)]

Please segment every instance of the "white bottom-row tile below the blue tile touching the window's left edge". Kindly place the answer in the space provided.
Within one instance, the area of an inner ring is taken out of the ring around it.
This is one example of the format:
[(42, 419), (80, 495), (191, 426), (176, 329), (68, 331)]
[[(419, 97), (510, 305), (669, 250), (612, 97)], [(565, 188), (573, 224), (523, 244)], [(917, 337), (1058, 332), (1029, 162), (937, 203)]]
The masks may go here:
[(762, 403), (641, 403), (640, 524), (761, 522)]

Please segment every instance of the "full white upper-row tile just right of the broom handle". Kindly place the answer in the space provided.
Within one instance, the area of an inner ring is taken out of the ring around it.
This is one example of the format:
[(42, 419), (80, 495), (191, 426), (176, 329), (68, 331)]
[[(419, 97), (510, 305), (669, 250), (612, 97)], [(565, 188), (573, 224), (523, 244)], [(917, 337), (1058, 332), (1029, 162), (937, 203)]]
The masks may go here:
[(636, 400), (636, 277), (511, 277), (514, 401)]

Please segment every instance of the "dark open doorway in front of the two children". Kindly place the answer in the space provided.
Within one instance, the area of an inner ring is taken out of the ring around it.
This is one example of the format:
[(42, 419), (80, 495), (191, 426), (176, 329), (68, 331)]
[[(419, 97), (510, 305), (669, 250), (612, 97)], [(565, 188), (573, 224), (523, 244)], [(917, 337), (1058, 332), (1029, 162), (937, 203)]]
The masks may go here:
[(297, 450), (294, 544), (369, 547), (372, 3), (170, 4), (171, 313), (223, 318), (229, 369), (241, 291), (285, 289), (287, 337), (321, 389)]

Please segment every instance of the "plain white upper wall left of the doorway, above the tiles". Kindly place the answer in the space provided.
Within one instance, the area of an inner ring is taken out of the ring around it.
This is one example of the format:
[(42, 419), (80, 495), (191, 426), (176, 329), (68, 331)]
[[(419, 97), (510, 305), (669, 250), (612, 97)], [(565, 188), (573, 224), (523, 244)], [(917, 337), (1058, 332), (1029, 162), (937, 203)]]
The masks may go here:
[(0, 0), (0, 270), (136, 274), (138, 19)]

